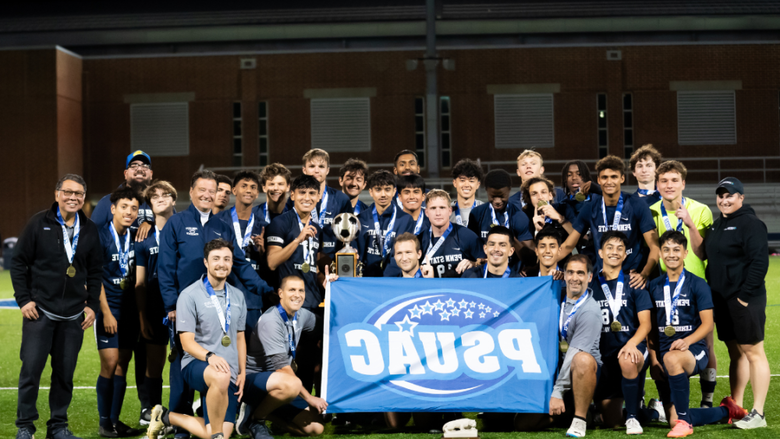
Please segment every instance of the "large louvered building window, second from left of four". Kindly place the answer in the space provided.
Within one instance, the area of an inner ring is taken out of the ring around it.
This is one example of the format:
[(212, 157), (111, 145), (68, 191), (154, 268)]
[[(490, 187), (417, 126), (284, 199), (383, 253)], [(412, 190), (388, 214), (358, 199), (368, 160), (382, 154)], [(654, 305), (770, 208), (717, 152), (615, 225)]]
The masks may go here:
[(370, 98), (311, 100), (311, 146), (328, 152), (371, 151)]

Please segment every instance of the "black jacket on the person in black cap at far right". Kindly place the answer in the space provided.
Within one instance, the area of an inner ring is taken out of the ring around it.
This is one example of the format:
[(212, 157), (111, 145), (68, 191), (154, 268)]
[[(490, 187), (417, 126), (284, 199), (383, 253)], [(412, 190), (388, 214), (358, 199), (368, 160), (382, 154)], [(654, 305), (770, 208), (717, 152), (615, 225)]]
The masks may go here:
[(748, 302), (766, 294), (764, 278), (769, 269), (766, 224), (747, 204), (729, 215), (721, 215), (704, 240), (707, 252), (707, 281), (713, 293), (724, 299), (733, 296)]

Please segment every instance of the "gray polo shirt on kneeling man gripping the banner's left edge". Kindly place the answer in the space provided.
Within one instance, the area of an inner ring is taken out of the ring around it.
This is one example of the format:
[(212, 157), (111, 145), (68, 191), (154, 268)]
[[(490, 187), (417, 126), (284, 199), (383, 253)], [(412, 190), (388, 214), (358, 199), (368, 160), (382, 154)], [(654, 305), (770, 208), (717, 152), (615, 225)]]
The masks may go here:
[(317, 326), (317, 317), (308, 309), (298, 310), (298, 320), (293, 325), (293, 320), (288, 318), (288, 323), (282, 319), (277, 307), (268, 308), (257, 321), (257, 328), (252, 331), (246, 353), (247, 374), (275, 371), (277, 368), (270, 357), (278, 354), (287, 355), (287, 365), (292, 362), (290, 352), (289, 332), (295, 328), (295, 347), (301, 341), (301, 334), (314, 331)]

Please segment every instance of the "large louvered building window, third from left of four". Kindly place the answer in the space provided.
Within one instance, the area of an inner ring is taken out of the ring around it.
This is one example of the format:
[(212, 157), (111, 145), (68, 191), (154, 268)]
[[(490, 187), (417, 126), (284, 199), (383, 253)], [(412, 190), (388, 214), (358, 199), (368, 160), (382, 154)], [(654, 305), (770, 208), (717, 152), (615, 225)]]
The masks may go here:
[(496, 148), (555, 146), (552, 93), (494, 95), (493, 118)]

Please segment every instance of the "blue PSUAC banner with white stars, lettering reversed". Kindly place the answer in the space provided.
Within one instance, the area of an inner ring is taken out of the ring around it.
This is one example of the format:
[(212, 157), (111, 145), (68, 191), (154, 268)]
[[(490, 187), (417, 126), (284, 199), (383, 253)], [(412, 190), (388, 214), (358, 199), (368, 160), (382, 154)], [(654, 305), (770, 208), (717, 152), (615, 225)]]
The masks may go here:
[(326, 295), (331, 413), (547, 413), (561, 282), (341, 278)]

